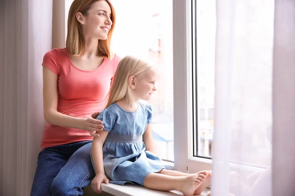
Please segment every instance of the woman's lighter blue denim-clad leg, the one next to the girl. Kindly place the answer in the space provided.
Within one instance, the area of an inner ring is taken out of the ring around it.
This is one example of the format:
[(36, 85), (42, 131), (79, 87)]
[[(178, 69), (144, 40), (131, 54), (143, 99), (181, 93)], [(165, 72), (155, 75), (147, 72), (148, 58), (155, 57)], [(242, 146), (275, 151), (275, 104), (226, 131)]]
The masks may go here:
[(90, 160), (92, 141), (71, 144), (76, 150), (53, 180), (51, 196), (82, 196), (83, 188), (90, 184), (95, 173)]

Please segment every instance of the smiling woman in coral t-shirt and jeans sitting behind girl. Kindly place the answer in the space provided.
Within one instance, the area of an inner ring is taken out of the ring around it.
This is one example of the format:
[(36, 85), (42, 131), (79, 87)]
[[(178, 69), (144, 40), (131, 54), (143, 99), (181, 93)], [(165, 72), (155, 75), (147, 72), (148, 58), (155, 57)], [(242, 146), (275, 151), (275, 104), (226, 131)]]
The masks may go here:
[(94, 177), (91, 143), (99, 137), (95, 132), (103, 128), (94, 119), (95, 112), (106, 105), (120, 60), (110, 51), (114, 25), (109, 0), (74, 0), (66, 48), (44, 55), (43, 107), (49, 125), (43, 134), (31, 196), (81, 196)]

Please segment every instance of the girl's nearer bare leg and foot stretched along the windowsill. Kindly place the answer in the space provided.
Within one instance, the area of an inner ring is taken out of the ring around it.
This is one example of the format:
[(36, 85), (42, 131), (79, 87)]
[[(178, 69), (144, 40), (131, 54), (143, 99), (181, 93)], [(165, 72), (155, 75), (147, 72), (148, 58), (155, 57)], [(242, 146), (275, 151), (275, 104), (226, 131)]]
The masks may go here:
[(194, 173), (187, 176), (170, 176), (161, 173), (150, 173), (146, 177), (143, 185), (152, 190), (177, 190), (182, 192), (184, 196), (192, 196), (205, 178), (206, 172), (201, 172), (199, 174)]

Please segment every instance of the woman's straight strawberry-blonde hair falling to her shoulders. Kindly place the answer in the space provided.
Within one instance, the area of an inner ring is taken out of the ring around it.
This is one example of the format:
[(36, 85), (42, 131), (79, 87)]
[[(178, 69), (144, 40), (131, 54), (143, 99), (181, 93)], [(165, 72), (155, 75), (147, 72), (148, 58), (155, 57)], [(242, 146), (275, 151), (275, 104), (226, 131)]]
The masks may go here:
[[(85, 38), (82, 32), (82, 25), (76, 19), (76, 14), (81, 12), (83, 15), (88, 14), (88, 10), (91, 5), (99, 0), (74, 0), (71, 4), (68, 21), (67, 21), (67, 36), (66, 36), (66, 49), (70, 55), (76, 57), (82, 57), (86, 51)], [(111, 21), (113, 25), (108, 33), (106, 40), (98, 40), (98, 54), (101, 56), (107, 56), (112, 58), (112, 52), (110, 50), (112, 33), (116, 23), (116, 14), (113, 5), (109, 0), (105, 0), (111, 7)]]

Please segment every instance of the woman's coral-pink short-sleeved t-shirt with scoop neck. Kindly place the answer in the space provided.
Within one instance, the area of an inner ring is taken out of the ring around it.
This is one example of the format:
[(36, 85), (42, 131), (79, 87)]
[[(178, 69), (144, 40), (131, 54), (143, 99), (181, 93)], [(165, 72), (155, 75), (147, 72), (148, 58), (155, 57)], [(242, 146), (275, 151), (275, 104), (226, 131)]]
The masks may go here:
[[(58, 75), (58, 111), (62, 114), (88, 118), (104, 109), (120, 57), (105, 58), (91, 71), (77, 68), (67, 50), (52, 49), (43, 58), (42, 65)], [(48, 124), (42, 138), (41, 150), (46, 147), (92, 140), (88, 131)]]

